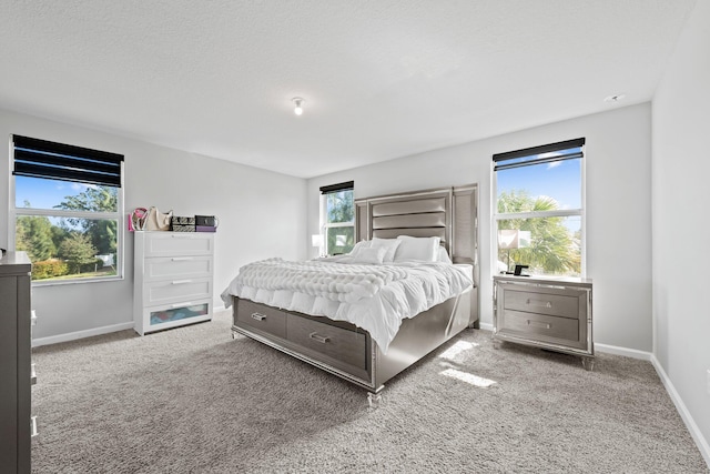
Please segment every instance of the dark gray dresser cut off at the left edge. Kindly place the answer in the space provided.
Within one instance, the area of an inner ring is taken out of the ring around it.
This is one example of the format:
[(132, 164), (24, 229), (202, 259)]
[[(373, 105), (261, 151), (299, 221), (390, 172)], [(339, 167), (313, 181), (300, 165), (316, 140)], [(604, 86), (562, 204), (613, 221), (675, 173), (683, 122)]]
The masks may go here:
[(31, 271), (24, 252), (0, 259), (0, 471), (31, 471)]

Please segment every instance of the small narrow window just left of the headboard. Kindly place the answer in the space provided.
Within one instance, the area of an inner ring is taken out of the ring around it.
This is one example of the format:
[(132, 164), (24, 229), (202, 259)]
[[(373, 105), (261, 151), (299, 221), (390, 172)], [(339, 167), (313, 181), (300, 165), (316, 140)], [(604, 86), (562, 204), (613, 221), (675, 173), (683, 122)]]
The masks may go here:
[(321, 188), (321, 226), (325, 233), (325, 253), (347, 253), (355, 245), (354, 182)]

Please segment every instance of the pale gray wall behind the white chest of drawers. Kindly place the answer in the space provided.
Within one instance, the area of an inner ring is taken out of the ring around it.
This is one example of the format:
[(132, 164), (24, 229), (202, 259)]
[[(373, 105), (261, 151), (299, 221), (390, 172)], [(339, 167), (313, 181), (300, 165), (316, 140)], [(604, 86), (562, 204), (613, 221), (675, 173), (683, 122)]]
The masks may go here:
[[(175, 215), (220, 218), (215, 235), (215, 305), (241, 265), (257, 259), (305, 258), (305, 180), (145, 142), (0, 110), (0, 137), (13, 133), (125, 155), (125, 212), (172, 209)], [(7, 142), (6, 142), (7, 143)], [(8, 248), (9, 150), (2, 147), (0, 246)], [(126, 232), (125, 279), (118, 282), (34, 288), (40, 317), (36, 337), (132, 322), (133, 241)]]

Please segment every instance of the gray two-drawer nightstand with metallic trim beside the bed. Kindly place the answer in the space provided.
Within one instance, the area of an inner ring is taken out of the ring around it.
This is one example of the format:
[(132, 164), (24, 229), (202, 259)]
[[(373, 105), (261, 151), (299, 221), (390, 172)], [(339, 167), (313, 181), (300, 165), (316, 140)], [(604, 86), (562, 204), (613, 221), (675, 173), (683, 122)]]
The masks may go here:
[(493, 280), (494, 342), (580, 355), (585, 369), (594, 369), (591, 280), (514, 275)]

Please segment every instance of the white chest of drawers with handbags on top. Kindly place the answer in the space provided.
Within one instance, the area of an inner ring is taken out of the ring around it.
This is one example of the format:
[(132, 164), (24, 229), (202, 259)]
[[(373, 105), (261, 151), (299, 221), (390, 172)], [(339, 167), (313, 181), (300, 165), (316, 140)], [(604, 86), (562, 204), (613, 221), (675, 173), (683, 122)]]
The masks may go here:
[(209, 321), (214, 233), (134, 232), (133, 320), (145, 333)]

